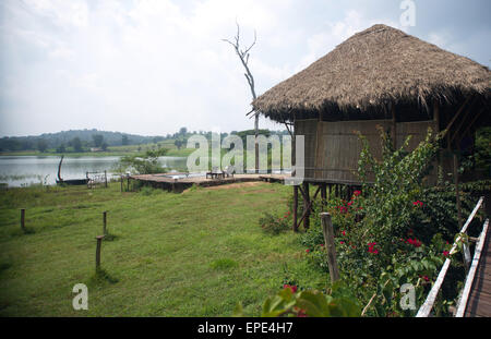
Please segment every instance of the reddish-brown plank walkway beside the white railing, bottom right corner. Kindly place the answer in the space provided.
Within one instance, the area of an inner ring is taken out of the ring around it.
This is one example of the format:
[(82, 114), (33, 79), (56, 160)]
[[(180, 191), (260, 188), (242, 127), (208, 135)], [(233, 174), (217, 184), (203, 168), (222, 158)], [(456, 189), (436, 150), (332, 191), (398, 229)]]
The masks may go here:
[(476, 270), (466, 306), (466, 317), (491, 317), (491, 243), (490, 231)]

